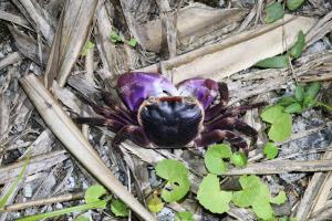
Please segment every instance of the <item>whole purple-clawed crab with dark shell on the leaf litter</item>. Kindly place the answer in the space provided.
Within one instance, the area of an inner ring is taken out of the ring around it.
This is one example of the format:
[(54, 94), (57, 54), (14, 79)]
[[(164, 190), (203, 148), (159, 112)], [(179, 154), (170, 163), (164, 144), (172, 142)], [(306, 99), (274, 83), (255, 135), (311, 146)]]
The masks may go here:
[(106, 126), (115, 133), (113, 147), (125, 139), (145, 148), (206, 147), (227, 140), (247, 154), (248, 144), (239, 133), (251, 137), (251, 144), (258, 133), (239, 116), (266, 105), (228, 107), (227, 84), (201, 77), (174, 85), (157, 73), (131, 72), (118, 77), (116, 90), (125, 107), (106, 92), (102, 96), (107, 106), (82, 96), (101, 117), (76, 118), (80, 124)]

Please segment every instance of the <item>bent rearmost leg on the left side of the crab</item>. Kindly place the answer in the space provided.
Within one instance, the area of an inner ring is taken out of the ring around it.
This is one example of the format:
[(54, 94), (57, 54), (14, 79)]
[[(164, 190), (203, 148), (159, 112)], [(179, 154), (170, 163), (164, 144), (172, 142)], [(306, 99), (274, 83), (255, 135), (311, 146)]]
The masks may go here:
[(114, 137), (112, 146), (118, 147), (125, 139), (129, 139), (138, 146), (151, 148), (151, 141), (147, 139), (144, 130), (139, 126), (124, 126)]

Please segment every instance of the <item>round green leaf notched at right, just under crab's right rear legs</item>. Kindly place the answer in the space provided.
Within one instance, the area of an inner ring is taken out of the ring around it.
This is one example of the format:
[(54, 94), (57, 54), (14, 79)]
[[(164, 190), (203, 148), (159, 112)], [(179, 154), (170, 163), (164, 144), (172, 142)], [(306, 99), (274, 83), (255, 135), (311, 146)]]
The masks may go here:
[(228, 145), (214, 145), (208, 148), (204, 156), (204, 162), (209, 172), (222, 175), (227, 171), (227, 165), (222, 160), (231, 157), (231, 149)]

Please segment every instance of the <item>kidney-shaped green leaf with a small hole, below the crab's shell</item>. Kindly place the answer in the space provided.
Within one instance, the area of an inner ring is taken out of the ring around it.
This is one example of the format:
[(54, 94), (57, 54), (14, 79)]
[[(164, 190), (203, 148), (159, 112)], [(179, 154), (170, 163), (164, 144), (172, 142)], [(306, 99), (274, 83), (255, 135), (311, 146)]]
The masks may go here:
[(188, 169), (181, 162), (164, 159), (157, 164), (156, 173), (167, 180), (162, 190), (162, 198), (166, 202), (180, 200), (189, 191)]

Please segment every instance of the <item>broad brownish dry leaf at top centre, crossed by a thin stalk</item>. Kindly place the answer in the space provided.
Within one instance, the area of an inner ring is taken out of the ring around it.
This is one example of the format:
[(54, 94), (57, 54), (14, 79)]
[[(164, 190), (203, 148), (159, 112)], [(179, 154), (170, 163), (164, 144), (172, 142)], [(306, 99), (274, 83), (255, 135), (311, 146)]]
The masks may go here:
[[(170, 8), (164, 1), (157, 1), (158, 7), (166, 9), (164, 12), (170, 12)], [(167, 13), (167, 18), (169, 21), (176, 19), (176, 30), (173, 31), (178, 32), (178, 44), (189, 45), (205, 35), (239, 22), (247, 12), (245, 9), (214, 9), (201, 3), (191, 3), (180, 8), (176, 13), (173, 11)], [(148, 21), (146, 24), (137, 27), (141, 33), (139, 43), (144, 49), (159, 52), (160, 48), (164, 46), (162, 17), (163, 14), (160, 14), (160, 19)]]

